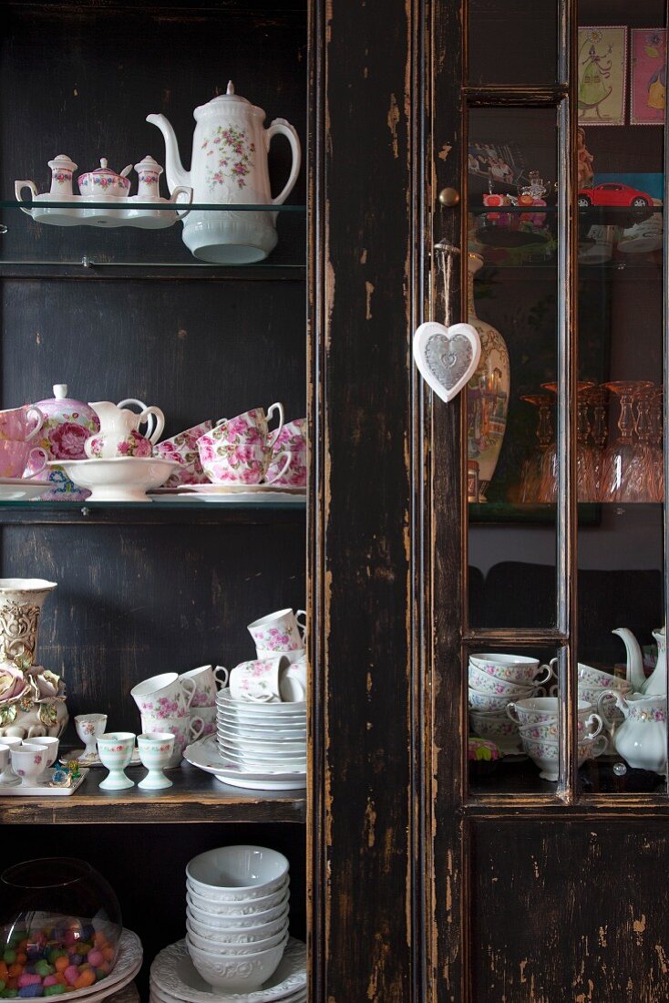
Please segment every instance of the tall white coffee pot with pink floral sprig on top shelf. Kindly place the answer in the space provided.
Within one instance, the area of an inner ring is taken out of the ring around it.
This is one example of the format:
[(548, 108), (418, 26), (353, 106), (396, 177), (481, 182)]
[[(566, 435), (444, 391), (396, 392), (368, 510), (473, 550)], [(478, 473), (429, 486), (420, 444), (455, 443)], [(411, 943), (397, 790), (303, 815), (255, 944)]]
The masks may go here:
[[(281, 206), (293, 190), (300, 172), (298, 134), (285, 118), (275, 118), (265, 128), (265, 112), (228, 91), (194, 111), (191, 170), (182, 164), (175, 130), (164, 115), (151, 114), (146, 121), (162, 132), (165, 142), (165, 174), (170, 192), (179, 187), (193, 189), (193, 202), (225, 205)], [(290, 176), (281, 193), (272, 198), (267, 153), (272, 137), (288, 138), (293, 154)], [(184, 221), (184, 243), (203, 261), (248, 264), (261, 261), (277, 243), (276, 213), (217, 211), (191, 212)]]

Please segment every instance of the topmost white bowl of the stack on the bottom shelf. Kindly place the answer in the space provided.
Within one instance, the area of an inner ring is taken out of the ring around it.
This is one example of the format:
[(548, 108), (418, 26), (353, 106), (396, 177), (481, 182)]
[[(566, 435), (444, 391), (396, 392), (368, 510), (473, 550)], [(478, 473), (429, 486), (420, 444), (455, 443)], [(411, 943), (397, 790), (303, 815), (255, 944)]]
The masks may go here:
[(215, 902), (246, 902), (279, 891), (288, 879), (288, 860), (277, 850), (219, 847), (200, 854), (187, 865), (190, 886)]

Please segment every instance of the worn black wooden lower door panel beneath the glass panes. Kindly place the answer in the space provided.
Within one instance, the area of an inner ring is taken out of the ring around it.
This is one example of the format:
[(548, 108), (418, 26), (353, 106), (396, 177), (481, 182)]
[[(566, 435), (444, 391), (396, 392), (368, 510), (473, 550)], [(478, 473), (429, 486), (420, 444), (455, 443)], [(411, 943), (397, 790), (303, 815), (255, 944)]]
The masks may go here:
[(471, 999), (664, 1003), (666, 823), (476, 823), (471, 832)]

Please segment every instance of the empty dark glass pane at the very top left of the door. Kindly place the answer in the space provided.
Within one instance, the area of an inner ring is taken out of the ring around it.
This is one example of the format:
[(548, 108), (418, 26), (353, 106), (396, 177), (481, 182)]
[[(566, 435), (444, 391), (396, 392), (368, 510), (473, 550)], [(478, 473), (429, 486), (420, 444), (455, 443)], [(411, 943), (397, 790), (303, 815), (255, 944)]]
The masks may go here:
[(558, 4), (469, 0), (469, 84), (551, 84), (558, 72)]

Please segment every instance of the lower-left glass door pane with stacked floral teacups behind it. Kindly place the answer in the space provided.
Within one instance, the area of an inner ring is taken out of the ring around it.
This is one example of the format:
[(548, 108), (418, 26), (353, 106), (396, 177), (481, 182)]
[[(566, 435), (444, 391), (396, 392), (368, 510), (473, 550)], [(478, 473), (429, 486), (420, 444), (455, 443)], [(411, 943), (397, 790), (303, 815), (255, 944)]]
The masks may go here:
[[(472, 649), (467, 665), (469, 790), (555, 792), (560, 766), (557, 652)], [(585, 724), (595, 731), (594, 721)], [(595, 736), (593, 736), (594, 738)], [(585, 755), (590, 739), (582, 743)]]

